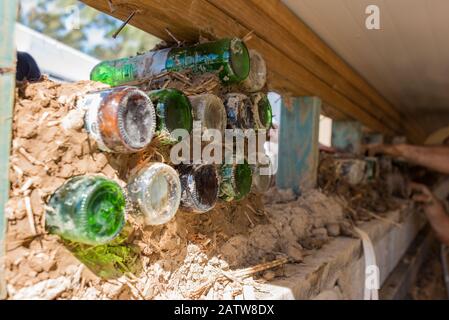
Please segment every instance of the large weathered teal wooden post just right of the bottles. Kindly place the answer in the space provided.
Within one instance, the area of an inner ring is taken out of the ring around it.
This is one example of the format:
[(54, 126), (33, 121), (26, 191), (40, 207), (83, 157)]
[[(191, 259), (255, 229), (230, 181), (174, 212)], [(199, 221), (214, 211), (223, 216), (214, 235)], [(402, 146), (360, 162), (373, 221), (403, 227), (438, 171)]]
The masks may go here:
[(321, 100), (317, 97), (282, 100), (278, 188), (301, 194), (316, 186), (320, 112)]

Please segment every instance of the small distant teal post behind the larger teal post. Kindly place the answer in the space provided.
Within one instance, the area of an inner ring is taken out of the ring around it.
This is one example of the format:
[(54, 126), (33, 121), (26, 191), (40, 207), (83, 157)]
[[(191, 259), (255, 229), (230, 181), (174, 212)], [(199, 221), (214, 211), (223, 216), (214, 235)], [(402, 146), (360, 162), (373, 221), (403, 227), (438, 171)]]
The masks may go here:
[(341, 152), (360, 153), (362, 125), (357, 121), (332, 122), (332, 146)]

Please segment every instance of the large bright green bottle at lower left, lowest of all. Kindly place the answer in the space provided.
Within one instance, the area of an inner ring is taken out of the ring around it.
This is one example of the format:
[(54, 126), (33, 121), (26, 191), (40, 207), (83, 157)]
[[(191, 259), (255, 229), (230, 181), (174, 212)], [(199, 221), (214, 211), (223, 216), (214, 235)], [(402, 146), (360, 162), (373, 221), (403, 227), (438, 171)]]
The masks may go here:
[(100, 176), (74, 177), (51, 196), (46, 229), (67, 240), (105, 244), (122, 230), (125, 206), (125, 195), (116, 182)]

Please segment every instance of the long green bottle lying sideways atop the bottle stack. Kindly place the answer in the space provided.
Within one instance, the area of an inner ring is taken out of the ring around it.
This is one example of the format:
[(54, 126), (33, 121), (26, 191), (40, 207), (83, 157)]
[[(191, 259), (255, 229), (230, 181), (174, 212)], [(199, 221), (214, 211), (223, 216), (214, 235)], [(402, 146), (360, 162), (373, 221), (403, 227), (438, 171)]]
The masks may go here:
[(164, 71), (191, 69), (195, 73), (216, 72), (224, 83), (248, 77), (250, 56), (240, 39), (221, 39), (192, 47), (168, 48), (96, 65), (91, 80), (111, 86), (149, 78)]

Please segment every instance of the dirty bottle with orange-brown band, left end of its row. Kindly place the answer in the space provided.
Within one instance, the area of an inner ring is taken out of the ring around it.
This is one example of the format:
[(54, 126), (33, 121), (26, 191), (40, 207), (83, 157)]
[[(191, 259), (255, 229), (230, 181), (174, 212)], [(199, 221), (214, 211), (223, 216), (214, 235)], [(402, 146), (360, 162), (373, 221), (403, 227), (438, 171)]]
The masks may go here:
[(86, 110), (86, 131), (103, 151), (137, 152), (153, 138), (156, 128), (153, 103), (134, 87), (91, 92), (77, 106)]

